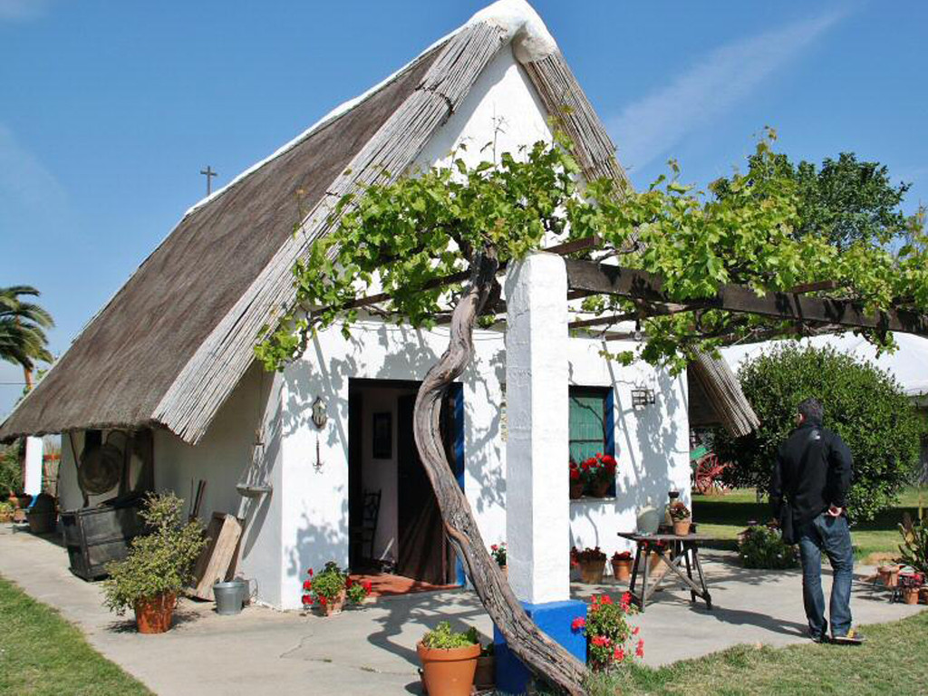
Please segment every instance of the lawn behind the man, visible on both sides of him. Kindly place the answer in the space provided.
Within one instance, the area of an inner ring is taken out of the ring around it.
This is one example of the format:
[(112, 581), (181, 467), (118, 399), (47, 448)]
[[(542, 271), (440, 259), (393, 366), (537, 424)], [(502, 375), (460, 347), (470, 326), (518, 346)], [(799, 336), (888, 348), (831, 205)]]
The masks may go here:
[[(928, 493), (924, 500), (928, 502)], [(898, 524), (905, 512), (917, 519), (918, 505), (918, 489), (907, 488), (893, 508), (883, 510), (870, 522), (855, 522), (851, 538), (857, 560), (866, 560), (873, 553), (897, 553), (901, 541)], [(757, 502), (754, 489), (735, 490), (725, 496), (693, 495), (693, 520), (698, 522), (700, 534), (719, 540), (707, 546), (735, 548), (738, 533), (749, 521), (767, 522), (769, 519), (770, 507), (766, 501)]]

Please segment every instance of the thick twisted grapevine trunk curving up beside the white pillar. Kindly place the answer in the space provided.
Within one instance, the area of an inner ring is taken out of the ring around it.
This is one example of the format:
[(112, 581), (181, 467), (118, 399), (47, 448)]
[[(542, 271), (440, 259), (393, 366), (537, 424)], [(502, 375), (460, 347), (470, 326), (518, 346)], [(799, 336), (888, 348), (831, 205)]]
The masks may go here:
[(473, 357), (474, 323), (492, 293), (498, 265), (492, 253), (478, 255), (472, 264), (470, 287), (461, 296), (451, 318), (448, 348), (419, 387), (413, 415), (416, 445), (438, 498), (445, 534), (464, 563), (483, 607), (506, 637), (509, 649), (535, 675), (572, 696), (584, 694), (586, 666), (540, 631), (512, 594), (483, 544), (470, 504), (448, 466), (442, 445), (439, 428), (442, 397)]

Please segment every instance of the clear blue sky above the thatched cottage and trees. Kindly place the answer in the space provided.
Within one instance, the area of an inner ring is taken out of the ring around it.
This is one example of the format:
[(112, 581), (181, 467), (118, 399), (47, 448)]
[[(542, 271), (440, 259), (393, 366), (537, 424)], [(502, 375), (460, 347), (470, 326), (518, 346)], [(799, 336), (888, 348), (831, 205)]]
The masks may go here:
[[(485, 2), (0, 0), (0, 285), (56, 354), (204, 193)], [(928, 202), (928, 5), (537, 0), (636, 185), (704, 184), (765, 125), (794, 160), (882, 161)], [(145, 321), (145, 317), (139, 317)], [(0, 367), (0, 416), (21, 390)]]

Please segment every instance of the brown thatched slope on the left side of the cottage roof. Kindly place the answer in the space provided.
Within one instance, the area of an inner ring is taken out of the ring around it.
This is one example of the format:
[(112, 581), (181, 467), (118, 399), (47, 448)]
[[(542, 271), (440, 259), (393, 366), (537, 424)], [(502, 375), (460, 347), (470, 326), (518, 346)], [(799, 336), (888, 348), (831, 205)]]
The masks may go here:
[(324, 197), (440, 53), (417, 58), (191, 209), (19, 403), (0, 438), (157, 421), (164, 394), (291, 237), (301, 206)]

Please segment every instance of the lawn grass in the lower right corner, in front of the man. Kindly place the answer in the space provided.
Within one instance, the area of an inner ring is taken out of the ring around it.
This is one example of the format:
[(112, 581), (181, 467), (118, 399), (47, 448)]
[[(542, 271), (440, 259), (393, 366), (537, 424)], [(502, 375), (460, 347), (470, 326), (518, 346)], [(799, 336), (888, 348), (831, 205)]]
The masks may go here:
[(924, 694), (928, 693), (928, 612), (863, 628), (862, 646), (736, 646), (659, 669), (632, 667), (592, 685), (605, 694)]

